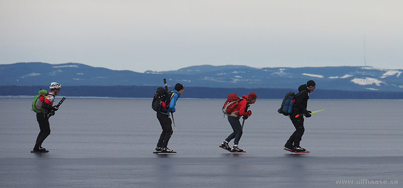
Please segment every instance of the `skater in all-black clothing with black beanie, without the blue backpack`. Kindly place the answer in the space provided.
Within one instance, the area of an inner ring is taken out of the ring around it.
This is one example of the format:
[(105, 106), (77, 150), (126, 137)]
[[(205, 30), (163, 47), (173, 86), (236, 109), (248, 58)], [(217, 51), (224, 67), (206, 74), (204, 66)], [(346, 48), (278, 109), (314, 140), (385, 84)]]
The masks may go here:
[(302, 139), (302, 135), (304, 134), (304, 114), (306, 117), (311, 116), (311, 111), (308, 111), (307, 103), (309, 99), (309, 93), (315, 90), (316, 84), (313, 80), (308, 81), (306, 84), (299, 86), (299, 93), (295, 97), (295, 105), (293, 111), (289, 115), (291, 122), (294, 124), (295, 131), (291, 135), (290, 139), (288, 139), (285, 148), (288, 148), (293, 151), (301, 152), (306, 151), (306, 149), (301, 148), (300, 142)]

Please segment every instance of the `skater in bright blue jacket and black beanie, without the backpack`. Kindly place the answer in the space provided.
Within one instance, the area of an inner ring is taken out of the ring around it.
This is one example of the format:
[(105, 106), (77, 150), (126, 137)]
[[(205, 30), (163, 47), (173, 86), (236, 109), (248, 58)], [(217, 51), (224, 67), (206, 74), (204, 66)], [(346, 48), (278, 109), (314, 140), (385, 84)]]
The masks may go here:
[[(175, 106), (176, 106), (176, 101), (179, 98), (179, 95), (182, 95), (184, 92), (183, 85), (180, 83), (177, 83), (175, 85), (175, 89), (171, 91), (173, 93), (171, 102), (169, 103), (168, 106), (168, 112), (163, 113), (163, 112), (157, 112), (157, 118), (158, 121), (160, 121), (161, 128), (162, 128), (162, 133), (160, 135), (160, 139), (158, 140), (157, 147), (155, 148), (156, 151), (161, 151), (161, 152), (166, 152), (166, 153), (172, 153), (174, 152), (173, 150), (168, 148), (168, 141), (172, 136), (173, 130), (172, 130), (172, 120), (169, 118), (169, 113), (173, 113), (176, 111)], [(171, 97), (171, 96), (168, 96)], [(168, 105), (168, 104), (167, 104)]]

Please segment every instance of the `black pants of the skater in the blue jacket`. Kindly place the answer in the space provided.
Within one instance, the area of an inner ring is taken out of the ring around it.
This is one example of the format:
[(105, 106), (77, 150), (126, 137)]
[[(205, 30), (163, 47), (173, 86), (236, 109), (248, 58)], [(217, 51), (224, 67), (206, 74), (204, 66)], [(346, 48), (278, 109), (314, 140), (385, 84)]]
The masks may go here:
[(160, 139), (158, 140), (157, 147), (166, 148), (168, 147), (168, 141), (173, 133), (172, 131), (172, 121), (169, 115), (157, 112), (157, 118), (160, 121), (162, 133)]

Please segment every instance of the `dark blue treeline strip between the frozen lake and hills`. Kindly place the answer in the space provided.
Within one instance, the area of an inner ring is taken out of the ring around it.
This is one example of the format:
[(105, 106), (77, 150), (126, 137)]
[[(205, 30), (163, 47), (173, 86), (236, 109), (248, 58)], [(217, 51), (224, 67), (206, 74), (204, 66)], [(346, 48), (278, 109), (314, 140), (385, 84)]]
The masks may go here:
[[(71, 97), (133, 97), (152, 98), (157, 86), (63, 86), (60, 95)], [(39, 89), (49, 90), (48, 86), (0, 86), (0, 96), (34, 96)], [(169, 88), (173, 89), (173, 88)], [(239, 96), (255, 92), (260, 99), (282, 99), (295, 89), (274, 88), (209, 88), (186, 87), (183, 98), (227, 98), (229, 93)], [(316, 89), (311, 99), (403, 99), (403, 92), (341, 91)]]

